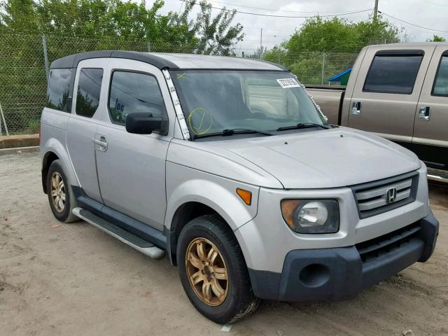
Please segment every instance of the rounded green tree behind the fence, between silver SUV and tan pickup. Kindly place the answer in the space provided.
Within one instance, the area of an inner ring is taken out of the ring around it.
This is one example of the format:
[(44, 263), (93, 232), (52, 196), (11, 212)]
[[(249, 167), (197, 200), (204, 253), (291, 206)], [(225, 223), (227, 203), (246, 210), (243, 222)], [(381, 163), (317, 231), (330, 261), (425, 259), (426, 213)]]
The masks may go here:
[(377, 20), (356, 23), (317, 16), (305, 21), (288, 41), (265, 52), (263, 58), (288, 66), (302, 83), (327, 83), (330, 76), (349, 68), (365, 45), (395, 43), (400, 34), (402, 31), (381, 15)]

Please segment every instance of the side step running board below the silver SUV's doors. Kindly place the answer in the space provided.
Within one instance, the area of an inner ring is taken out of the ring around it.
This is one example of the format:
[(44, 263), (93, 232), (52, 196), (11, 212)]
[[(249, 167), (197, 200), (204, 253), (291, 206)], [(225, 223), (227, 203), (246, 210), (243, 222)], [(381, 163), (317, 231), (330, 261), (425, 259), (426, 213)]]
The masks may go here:
[(120, 228), (118, 225), (105, 221), (103, 218), (92, 214), (90, 211), (82, 208), (75, 208), (72, 212), (73, 215), (83, 219), (100, 230), (109, 233), (109, 235), (116, 237), (116, 239), (123, 241), (123, 243), (150, 256), (153, 259), (159, 260), (165, 257), (165, 251), (161, 250), (157, 246), (154, 246), (151, 242), (134, 235), (132, 232)]

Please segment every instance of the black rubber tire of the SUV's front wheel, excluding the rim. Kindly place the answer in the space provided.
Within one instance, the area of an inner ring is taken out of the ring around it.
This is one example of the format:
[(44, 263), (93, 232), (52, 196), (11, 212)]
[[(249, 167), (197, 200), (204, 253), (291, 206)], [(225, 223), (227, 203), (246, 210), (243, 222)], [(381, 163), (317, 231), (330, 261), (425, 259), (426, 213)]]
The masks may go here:
[[(218, 248), (228, 272), (228, 290), (223, 302), (211, 306), (195, 293), (188, 279), (186, 253), (190, 243), (204, 238)], [(200, 313), (216, 323), (233, 323), (257, 309), (260, 299), (253, 295), (246, 262), (232, 230), (218, 215), (204, 215), (183, 228), (177, 245), (177, 265), (183, 289)]]

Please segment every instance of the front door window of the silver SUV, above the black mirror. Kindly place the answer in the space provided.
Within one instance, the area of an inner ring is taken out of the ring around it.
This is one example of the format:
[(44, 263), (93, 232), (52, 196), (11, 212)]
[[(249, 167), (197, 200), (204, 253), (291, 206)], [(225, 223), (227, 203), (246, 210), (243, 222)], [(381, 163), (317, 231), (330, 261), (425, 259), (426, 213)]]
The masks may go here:
[(157, 79), (146, 73), (114, 71), (109, 94), (112, 123), (124, 124), (128, 113), (151, 113), (162, 117), (165, 111)]

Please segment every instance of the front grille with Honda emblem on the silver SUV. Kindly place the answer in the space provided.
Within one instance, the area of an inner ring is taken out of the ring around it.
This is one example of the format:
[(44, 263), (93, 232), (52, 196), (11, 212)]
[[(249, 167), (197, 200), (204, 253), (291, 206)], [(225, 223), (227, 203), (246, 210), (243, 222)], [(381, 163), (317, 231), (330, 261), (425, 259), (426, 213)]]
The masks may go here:
[[(417, 183), (418, 174), (412, 172), (352, 186), (360, 218), (381, 214), (414, 202)], [(392, 196), (393, 200), (391, 200)]]

